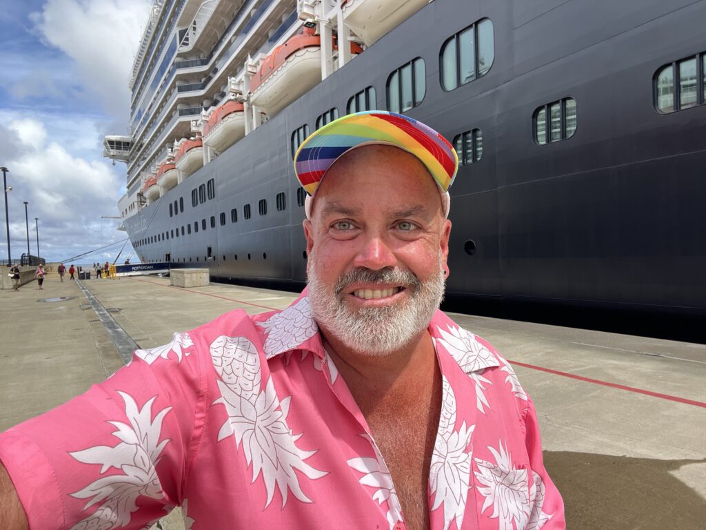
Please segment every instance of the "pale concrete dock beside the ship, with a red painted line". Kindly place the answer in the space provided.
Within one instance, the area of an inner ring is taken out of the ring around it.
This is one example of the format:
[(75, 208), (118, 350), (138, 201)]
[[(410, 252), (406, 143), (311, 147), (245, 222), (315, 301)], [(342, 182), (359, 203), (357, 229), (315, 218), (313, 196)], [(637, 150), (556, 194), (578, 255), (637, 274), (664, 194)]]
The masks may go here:
[[(229, 310), (282, 309), (296, 298), (219, 283), (175, 288), (155, 276), (81, 284), (98, 313), (78, 282), (56, 275), (43, 290), (0, 290), (0, 431), (112, 374), (131, 343), (159, 346)], [(568, 528), (704, 527), (706, 346), (450, 317), (491, 341), (532, 396)], [(159, 527), (183, 528), (175, 512)]]

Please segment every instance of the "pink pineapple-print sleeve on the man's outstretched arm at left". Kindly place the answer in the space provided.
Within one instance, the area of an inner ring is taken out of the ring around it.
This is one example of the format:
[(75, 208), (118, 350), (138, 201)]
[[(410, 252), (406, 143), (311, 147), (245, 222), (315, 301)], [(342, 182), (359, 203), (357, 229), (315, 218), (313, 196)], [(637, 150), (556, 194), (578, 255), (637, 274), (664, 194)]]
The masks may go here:
[(176, 334), (138, 350), (85, 394), (0, 434), (30, 528), (142, 529), (180, 503), (205, 409), (189, 348)]

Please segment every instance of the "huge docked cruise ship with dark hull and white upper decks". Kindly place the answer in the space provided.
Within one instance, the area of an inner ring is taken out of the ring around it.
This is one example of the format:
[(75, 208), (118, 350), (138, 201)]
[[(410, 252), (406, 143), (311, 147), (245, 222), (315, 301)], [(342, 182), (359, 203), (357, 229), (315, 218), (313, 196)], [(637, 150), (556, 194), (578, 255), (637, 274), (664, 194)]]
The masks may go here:
[(706, 1), (154, 0), (119, 211), (143, 262), (300, 288), (292, 158), (345, 113), (453, 142), (447, 298), (706, 315)]

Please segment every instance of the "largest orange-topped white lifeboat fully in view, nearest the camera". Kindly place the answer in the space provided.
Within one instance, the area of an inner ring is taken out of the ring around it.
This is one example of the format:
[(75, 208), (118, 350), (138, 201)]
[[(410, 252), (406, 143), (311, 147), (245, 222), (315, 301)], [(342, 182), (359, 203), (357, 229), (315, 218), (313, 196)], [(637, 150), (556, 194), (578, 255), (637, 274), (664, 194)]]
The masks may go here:
[[(362, 49), (351, 45), (351, 52)], [(277, 46), (250, 81), (250, 100), (273, 115), (321, 82), (321, 37), (305, 28)]]

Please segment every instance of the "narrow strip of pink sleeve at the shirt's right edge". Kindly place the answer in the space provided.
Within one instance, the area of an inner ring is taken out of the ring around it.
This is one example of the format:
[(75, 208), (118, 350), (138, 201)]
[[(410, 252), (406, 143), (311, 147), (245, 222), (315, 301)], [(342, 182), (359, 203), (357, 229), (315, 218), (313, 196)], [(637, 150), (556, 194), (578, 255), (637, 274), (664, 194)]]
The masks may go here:
[(542, 459), (542, 440), (539, 437), (537, 411), (534, 410), (532, 399), (527, 398), (527, 416), (525, 418), (525, 445), (530, 457), (533, 484), (530, 488), (530, 522), (528, 530), (563, 530), (566, 529), (564, 519), (564, 503), (561, 494), (549, 473), (544, 469)]

